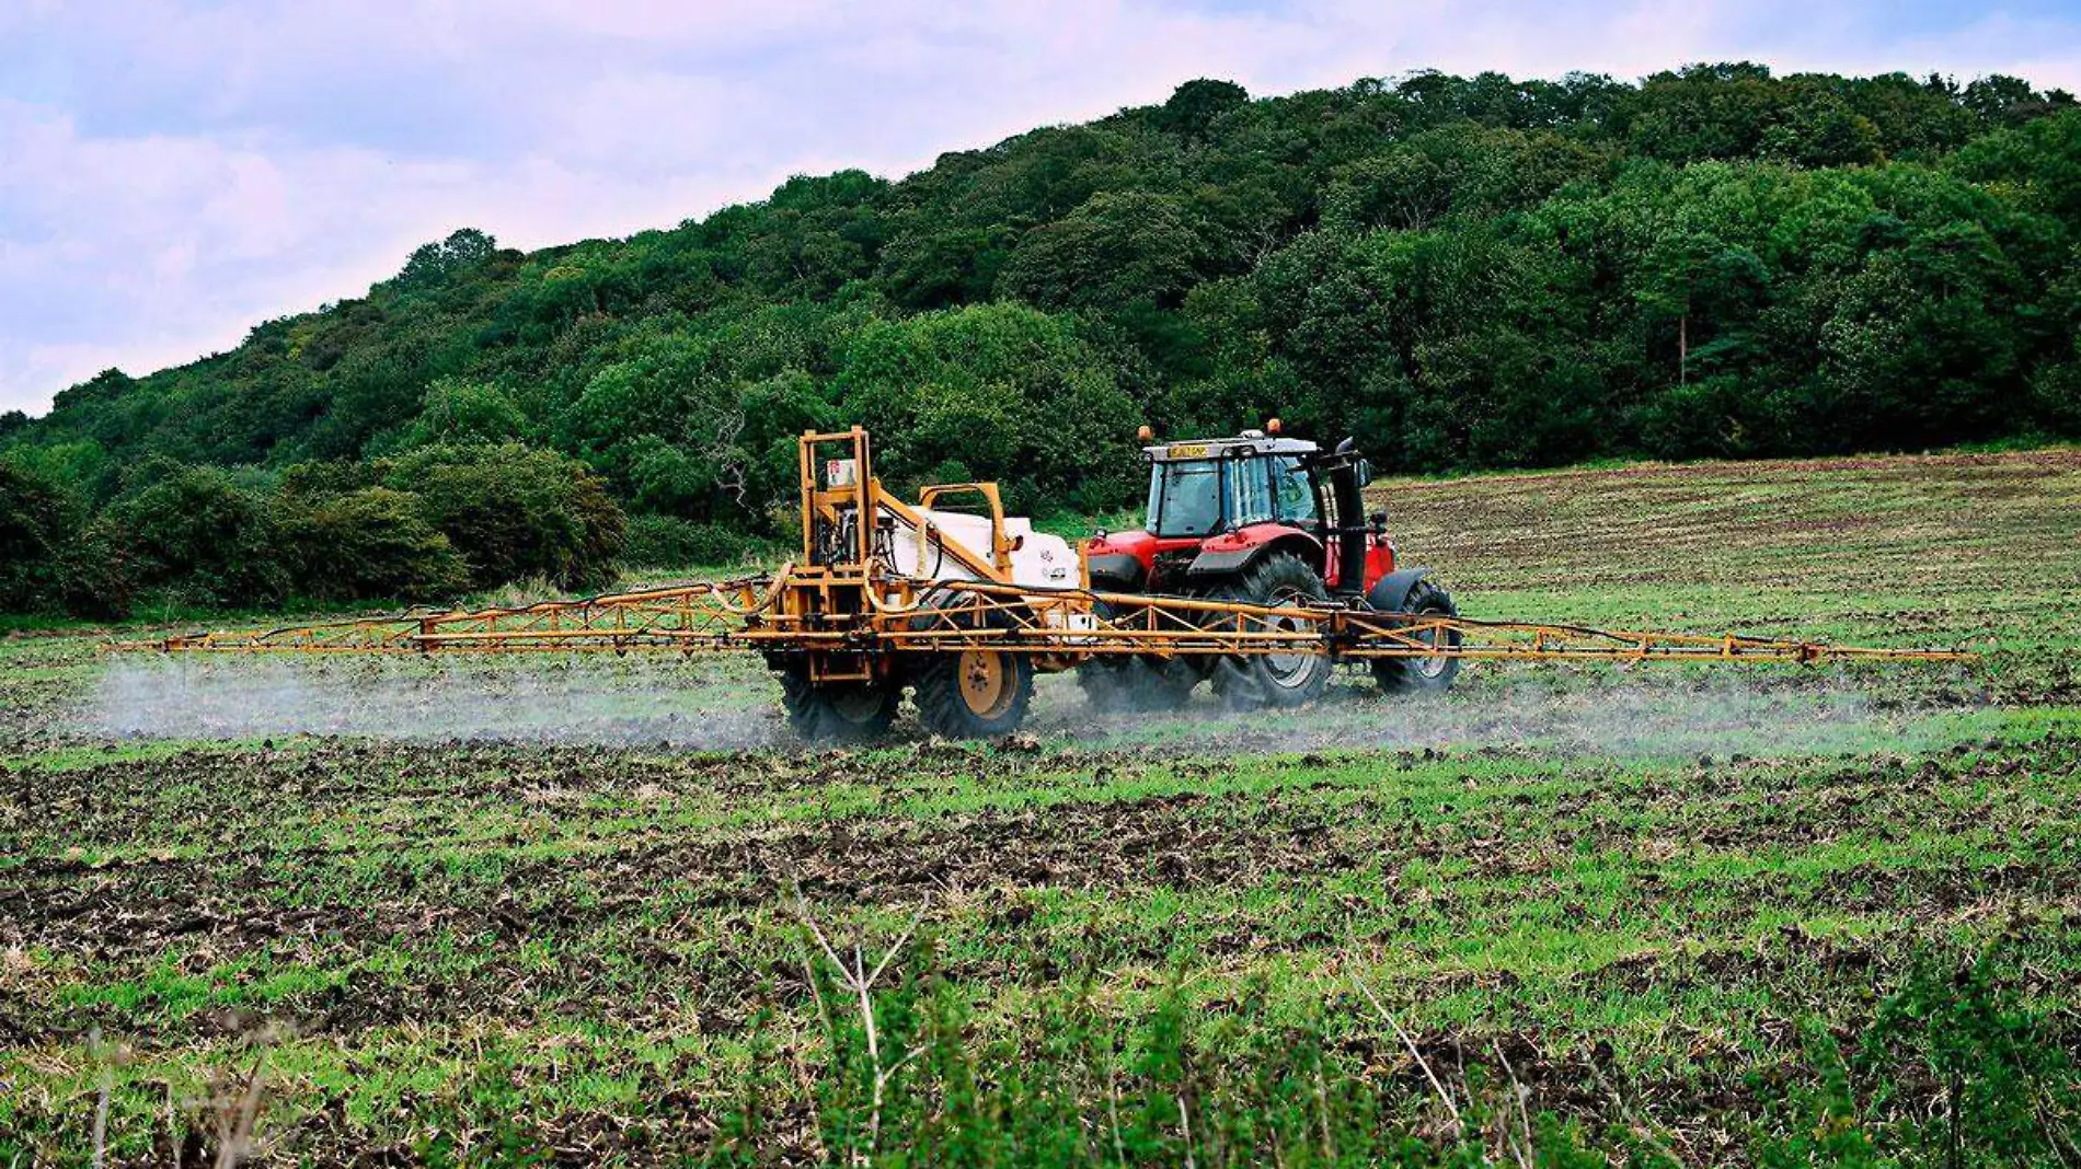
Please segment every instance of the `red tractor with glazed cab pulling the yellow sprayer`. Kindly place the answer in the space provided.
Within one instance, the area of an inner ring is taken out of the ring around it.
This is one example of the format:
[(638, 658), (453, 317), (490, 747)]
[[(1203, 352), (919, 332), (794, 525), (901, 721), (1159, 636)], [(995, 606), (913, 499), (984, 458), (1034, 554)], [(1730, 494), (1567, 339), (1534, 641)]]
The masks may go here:
[[(1365, 516), (1359, 491), (1371, 472), (1351, 439), (1324, 451), (1282, 437), (1274, 418), (1265, 431), (1234, 439), (1142, 451), (1151, 464), (1147, 522), (1086, 541), (1095, 591), (1459, 616), (1430, 570), (1396, 566), (1386, 516)], [(1117, 614), (1128, 605), (1107, 607)], [(1284, 624), (1309, 628), (1299, 618)], [(1230, 655), (1211, 668), (1186, 657), (1103, 655), (1078, 668), (1078, 682), (1101, 705), (1170, 709), (1211, 674), (1224, 703), (1251, 709), (1315, 699), (1332, 670), (1334, 659), (1305, 651)], [(1373, 659), (1386, 691), (1444, 691), (1457, 672), (1457, 657)]]

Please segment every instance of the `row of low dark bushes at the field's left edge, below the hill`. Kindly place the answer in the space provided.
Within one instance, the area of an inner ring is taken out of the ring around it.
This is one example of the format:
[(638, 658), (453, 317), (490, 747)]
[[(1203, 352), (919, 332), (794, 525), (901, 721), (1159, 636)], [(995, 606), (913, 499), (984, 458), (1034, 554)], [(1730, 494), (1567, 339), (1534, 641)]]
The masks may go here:
[(58, 483), (0, 460), (0, 609), (125, 616), (137, 595), (183, 609), (439, 601), (535, 578), (585, 589), (612, 580), (624, 539), (593, 472), (520, 445), (281, 474), (150, 458), (94, 520)]

